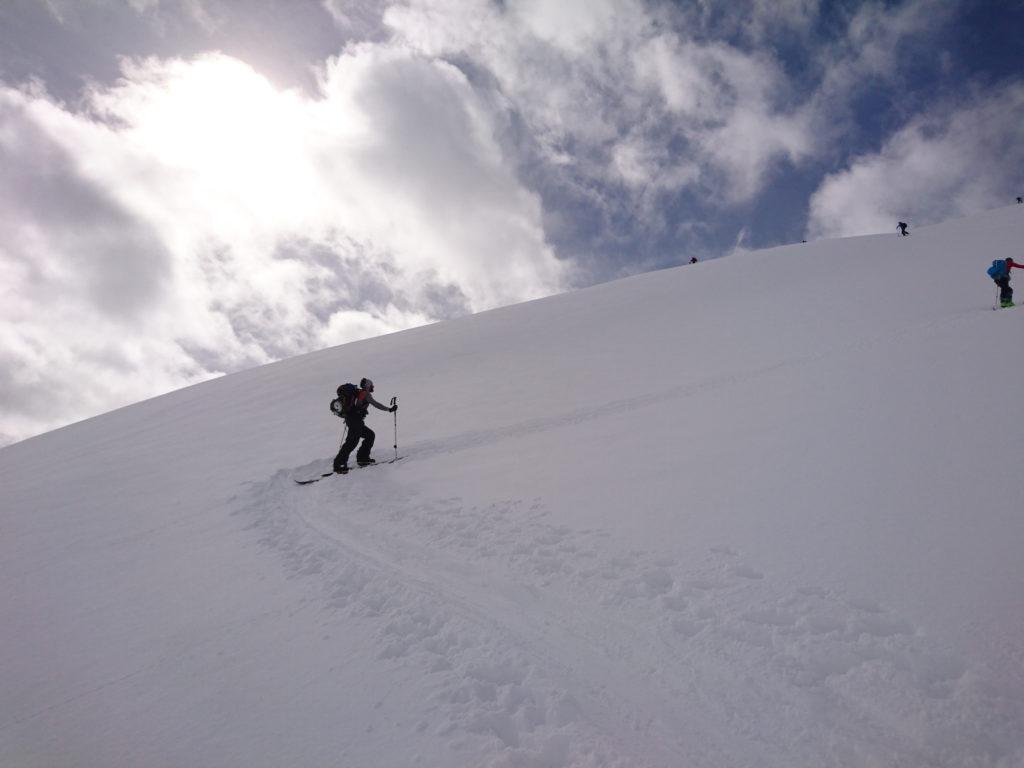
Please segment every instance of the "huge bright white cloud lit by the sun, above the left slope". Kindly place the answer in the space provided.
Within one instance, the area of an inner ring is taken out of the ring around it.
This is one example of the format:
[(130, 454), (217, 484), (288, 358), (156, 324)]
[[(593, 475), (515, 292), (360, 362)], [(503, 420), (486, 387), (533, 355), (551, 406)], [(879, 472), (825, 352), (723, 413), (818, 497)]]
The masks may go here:
[(80, 112), (0, 88), (7, 438), (561, 290), (502, 120), (451, 66), (373, 45), (318, 98), (220, 54), (127, 62)]

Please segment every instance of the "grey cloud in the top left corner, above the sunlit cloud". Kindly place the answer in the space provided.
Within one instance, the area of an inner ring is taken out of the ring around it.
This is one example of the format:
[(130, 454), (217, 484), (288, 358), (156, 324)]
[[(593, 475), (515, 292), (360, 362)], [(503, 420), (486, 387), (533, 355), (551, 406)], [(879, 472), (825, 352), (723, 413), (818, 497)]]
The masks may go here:
[(88, 83), (119, 78), (123, 57), (220, 50), (311, 93), (315, 67), (351, 34), (316, 0), (4, 0), (0, 79), (36, 78), (75, 102)]

